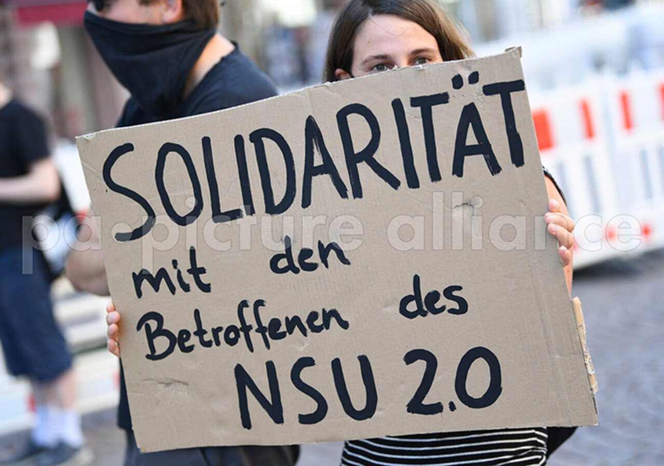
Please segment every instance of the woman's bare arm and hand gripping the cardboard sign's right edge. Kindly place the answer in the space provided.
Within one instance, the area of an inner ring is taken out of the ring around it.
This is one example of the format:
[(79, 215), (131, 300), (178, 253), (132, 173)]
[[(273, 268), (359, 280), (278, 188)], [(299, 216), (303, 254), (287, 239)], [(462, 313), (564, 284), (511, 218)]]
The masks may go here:
[(572, 293), (572, 248), (574, 247), (574, 220), (570, 218), (565, 201), (553, 182), (546, 179), (546, 192), (548, 193), (548, 212), (546, 212), (546, 231), (558, 240), (560, 247), (558, 255), (564, 267), (567, 289)]

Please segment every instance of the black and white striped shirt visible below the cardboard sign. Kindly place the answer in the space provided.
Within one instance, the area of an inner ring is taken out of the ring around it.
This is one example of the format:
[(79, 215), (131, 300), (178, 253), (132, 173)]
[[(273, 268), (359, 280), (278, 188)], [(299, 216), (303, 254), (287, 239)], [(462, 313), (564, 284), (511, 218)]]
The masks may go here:
[(546, 464), (546, 427), (347, 441), (343, 466)]

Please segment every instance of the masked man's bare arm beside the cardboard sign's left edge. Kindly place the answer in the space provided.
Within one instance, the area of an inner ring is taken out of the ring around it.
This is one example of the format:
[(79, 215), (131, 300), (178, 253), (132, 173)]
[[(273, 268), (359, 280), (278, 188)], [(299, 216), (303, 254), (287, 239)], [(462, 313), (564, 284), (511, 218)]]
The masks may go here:
[(67, 258), (65, 274), (78, 291), (88, 291), (100, 296), (110, 294), (102, 245), (92, 212), (84, 218), (78, 229), (76, 245)]

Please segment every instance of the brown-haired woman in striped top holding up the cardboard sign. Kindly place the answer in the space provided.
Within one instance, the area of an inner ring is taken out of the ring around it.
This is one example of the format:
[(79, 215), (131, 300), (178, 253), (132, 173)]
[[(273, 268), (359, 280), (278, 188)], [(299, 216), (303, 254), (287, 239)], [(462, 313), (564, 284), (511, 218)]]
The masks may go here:
[[(404, 66), (463, 60), (473, 55), (454, 21), (436, 0), (350, 0), (339, 12), (327, 50), (325, 80), (339, 81)], [(550, 173), (548, 232), (568, 289), (572, 288), (574, 222)], [(499, 429), (428, 433), (347, 441), (342, 465), (542, 465), (574, 429)]]

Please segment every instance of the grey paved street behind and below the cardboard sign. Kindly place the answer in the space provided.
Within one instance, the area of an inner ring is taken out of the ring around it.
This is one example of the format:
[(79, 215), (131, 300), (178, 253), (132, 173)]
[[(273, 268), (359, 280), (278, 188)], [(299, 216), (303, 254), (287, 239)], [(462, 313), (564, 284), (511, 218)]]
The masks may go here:
[[(600, 426), (584, 427), (552, 466), (664, 465), (664, 251), (584, 270), (574, 279), (600, 392)], [(85, 419), (98, 466), (121, 464), (114, 412)], [(7, 453), (20, 435), (0, 438)], [(305, 445), (299, 465), (336, 465), (339, 443)]]

